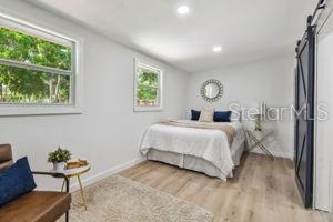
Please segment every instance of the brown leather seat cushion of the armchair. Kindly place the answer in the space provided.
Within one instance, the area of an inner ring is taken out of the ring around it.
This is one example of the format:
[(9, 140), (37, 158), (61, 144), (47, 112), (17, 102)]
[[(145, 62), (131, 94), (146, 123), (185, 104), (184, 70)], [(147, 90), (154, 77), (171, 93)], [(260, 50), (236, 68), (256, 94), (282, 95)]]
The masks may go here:
[(53, 222), (71, 203), (70, 193), (32, 191), (0, 208), (1, 222)]

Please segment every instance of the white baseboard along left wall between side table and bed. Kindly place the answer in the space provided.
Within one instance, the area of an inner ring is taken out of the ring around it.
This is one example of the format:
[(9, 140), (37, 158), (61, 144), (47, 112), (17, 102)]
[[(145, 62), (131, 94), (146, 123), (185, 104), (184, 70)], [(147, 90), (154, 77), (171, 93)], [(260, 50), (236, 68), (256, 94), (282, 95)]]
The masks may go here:
[[(121, 171), (123, 171), (123, 170), (125, 170), (128, 168), (131, 168), (131, 167), (133, 167), (133, 165), (135, 165), (135, 164), (138, 164), (140, 162), (143, 162), (143, 161), (144, 160), (142, 158), (134, 159), (134, 160), (129, 161), (127, 163), (123, 163), (123, 164), (117, 165), (117, 167), (114, 167), (112, 169), (109, 169), (109, 170), (105, 170), (103, 172), (100, 172), (100, 173), (98, 173), (95, 175), (91, 175), (91, 176), (85, 178), (85, 179), (82, 180), (82, 185), (83, 186), (91, 185), (93, 183), (97, 183), (100, 180), (103, 180), (103, 179), (105, 179), (105, 178), (108, 178), (110, 175), (114, 175), (114, 174), (117, 174), (117, 173), (119, 173), (119, 172), (121, 172)], [(71, 186), (70, 186), (71, 192), (75, 192), (79, 189), (80, 189), (79, 182), (75, 182), (75, 183), (71, 184)]]

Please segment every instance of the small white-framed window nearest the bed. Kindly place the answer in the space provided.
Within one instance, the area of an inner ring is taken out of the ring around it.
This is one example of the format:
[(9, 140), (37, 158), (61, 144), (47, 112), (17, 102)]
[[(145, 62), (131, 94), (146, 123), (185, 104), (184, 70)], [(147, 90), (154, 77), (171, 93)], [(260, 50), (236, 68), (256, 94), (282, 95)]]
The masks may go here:
[(162, 71), (135, 62), (134, 111), (157, 111), (162, 109)]

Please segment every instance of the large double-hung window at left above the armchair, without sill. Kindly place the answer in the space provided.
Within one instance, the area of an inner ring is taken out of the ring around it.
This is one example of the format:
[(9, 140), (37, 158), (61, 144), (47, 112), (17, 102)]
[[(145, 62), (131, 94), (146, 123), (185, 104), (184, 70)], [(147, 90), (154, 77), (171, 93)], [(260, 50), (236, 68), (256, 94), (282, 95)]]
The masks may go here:
[(0, 108), (74, 105), (77, 42), (0, 16)]

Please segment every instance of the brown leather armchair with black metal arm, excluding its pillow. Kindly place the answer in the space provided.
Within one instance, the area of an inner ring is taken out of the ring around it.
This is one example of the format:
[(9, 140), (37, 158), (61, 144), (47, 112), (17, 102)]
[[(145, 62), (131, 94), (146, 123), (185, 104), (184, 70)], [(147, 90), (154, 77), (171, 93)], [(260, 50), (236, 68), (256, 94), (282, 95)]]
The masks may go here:
[[(13, 163), (10, 144), (0, 144), (0, 172)], [(65, 175), (50, 172), (32, 172), (33, 174), (63, 178), (67, 192), (32, 191), (0, 208), (1, 222), (54, 222), (65, 214), (69, 221), (71, 194)]]

